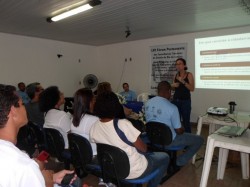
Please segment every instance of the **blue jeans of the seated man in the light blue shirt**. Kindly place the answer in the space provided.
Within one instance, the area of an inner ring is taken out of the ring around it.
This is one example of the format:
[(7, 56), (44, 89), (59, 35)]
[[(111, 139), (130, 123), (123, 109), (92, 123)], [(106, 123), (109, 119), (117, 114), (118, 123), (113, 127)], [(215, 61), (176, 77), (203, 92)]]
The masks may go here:
[(185, 146), (185, 152), (177, 157), (176, 165), (184, 166), (188, 161), (196, 154), (204, 142), (204, 139), (201, 136), (183, 133), (181, 135), (176, 135), (173, 142), (166, 146), (166, 148), (171, 146)]

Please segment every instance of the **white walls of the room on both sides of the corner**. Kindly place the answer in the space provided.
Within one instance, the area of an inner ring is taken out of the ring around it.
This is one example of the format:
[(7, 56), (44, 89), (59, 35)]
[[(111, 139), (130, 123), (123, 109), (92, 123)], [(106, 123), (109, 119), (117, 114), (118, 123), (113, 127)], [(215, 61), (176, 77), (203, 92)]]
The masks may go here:
[[(0, 83), (16, 85), (20, 81), (27, 84), (38, 81), (44, 87), (58, 85), (66, 96), (72, 96), (75, 90), (82, 86), (79, 85), (79, 81), (86, 74), (93, 73), (99, 81), (109, 81), (114, 91), (122, 89), (120, 82), (128, 82), (131, 89), (137, 93), (148, 92), (150, 46), (187, 43), (188, 68), (195, 74), (195, 38), (249, 31), (250, 27), (241, 27), (101, 47), (0, 33)], [(58, 59), (57, 54), (62, 54), (63, 57)], [(78, 62), (79, 59), (81, 63)], [(121, 77), (123, 66), (124, 74)], [(250, 111), (249, 91), (196, 89), (192, 93), (192, 121), (195, 122), (208, 107), (228, 107), (228, 102), (231, 100), (237, 103), (237, 110)]]

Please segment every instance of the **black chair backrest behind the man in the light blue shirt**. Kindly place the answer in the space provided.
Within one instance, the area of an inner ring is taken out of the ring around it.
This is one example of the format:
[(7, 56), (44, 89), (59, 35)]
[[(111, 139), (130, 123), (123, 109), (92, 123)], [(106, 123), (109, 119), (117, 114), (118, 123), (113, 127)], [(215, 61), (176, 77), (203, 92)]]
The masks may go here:
[(172, 140), (172, 131), (164, 123), (160, 122), (148, 122), (146, 124), (147, 136), (152, 144), (167, 146), (171, 144)]

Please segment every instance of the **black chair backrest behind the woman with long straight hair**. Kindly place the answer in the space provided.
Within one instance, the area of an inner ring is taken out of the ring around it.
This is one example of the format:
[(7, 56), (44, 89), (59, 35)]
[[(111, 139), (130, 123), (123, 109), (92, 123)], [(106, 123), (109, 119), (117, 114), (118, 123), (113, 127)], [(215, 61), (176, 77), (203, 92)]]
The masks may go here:
[(68, 140), (71, 153), (71, 163), (74, 168), (76, 168), (76, 171), (82, 170), (84, 172), (81, 172), (81, 174), (77, 173), (77, 175), (82, 178), (88, 173), (86, 165), (90, 164), (93, 159), (92, 147), (85, 137), (75, 133), (69, 133)]

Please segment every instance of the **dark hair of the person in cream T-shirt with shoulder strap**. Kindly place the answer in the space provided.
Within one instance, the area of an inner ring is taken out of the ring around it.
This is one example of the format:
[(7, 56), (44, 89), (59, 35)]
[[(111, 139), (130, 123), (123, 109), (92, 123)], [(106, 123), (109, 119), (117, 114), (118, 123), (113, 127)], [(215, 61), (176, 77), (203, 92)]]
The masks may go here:
[(104, 92), (97, 96), (94, 113), (99, 118), (115, 118), (118, 116), (121, 104), (114, 92)]

